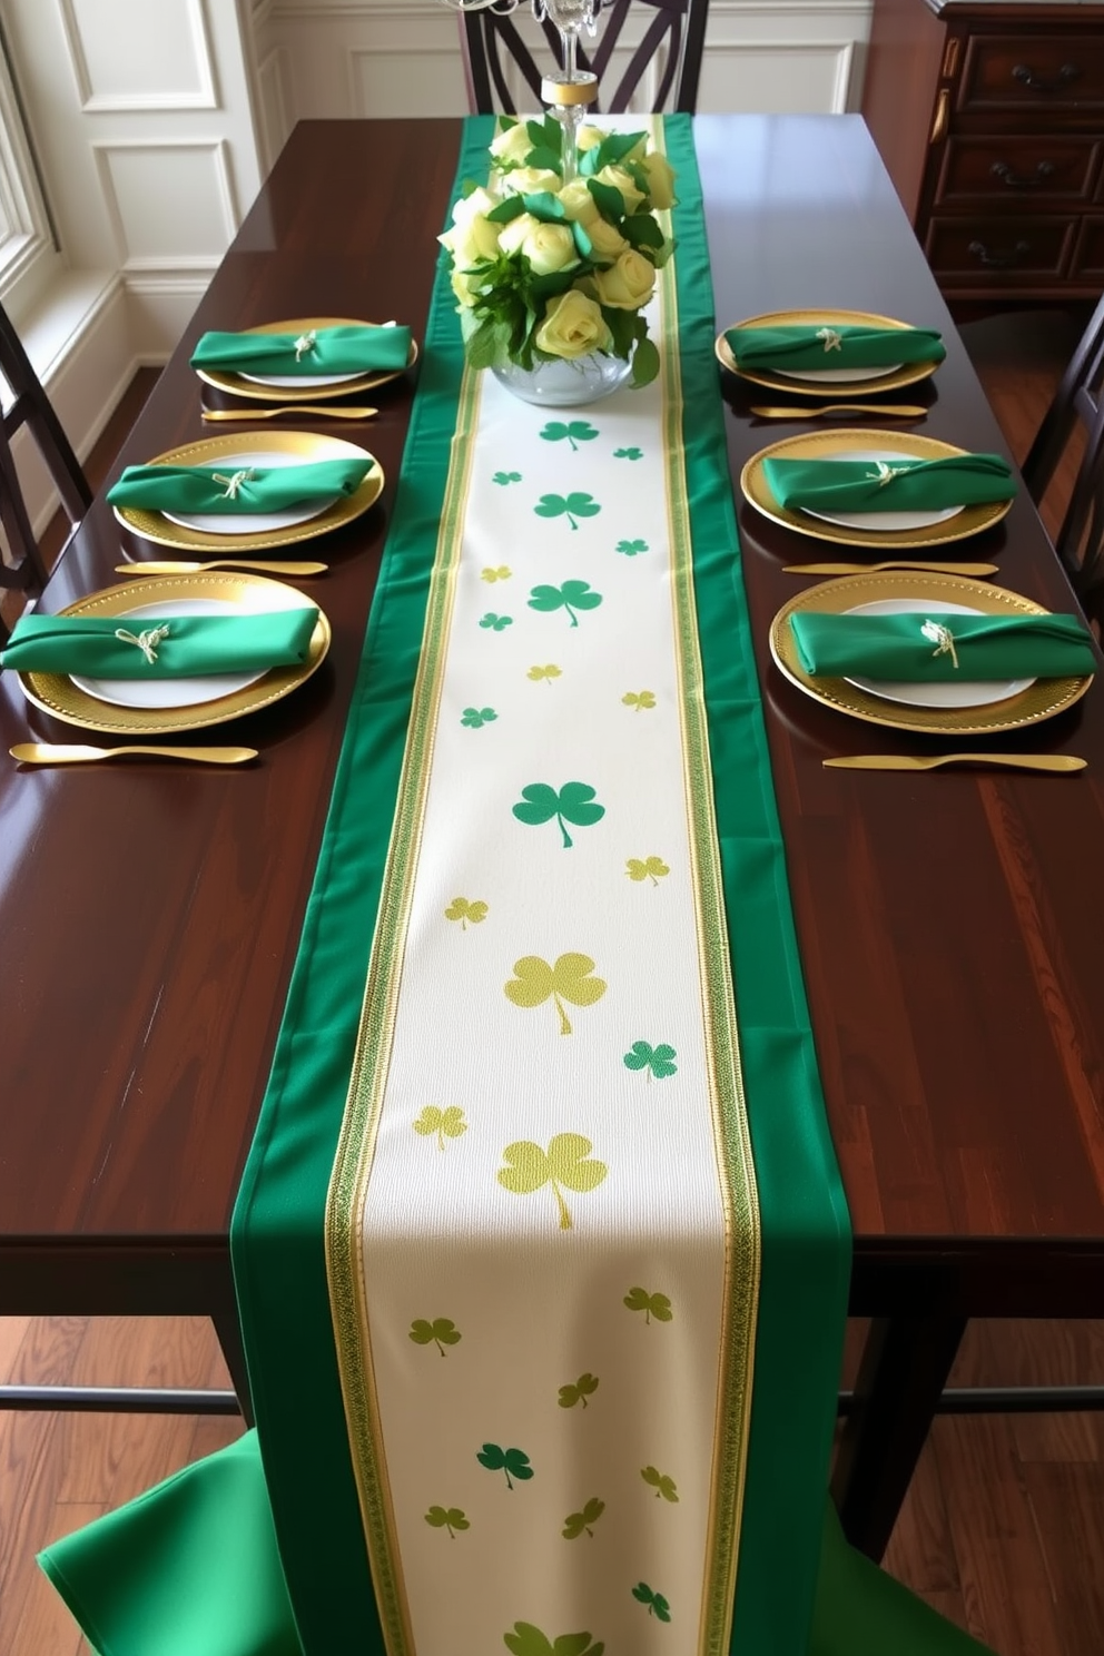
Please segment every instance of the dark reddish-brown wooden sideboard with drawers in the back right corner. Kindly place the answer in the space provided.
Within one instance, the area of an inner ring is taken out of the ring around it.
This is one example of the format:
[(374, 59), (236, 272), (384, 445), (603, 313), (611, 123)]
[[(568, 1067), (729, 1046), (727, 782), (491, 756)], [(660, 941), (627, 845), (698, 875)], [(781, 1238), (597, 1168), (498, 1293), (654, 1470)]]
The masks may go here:
[(862, 114), (948, 300), (1104, 290), (1101, 0), (874, 0)]

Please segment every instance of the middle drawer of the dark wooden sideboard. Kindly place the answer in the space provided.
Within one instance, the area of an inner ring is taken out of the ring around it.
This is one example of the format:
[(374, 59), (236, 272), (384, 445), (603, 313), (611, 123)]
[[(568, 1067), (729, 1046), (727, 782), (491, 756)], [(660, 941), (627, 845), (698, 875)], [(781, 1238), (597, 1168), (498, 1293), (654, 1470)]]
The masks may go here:
[(1101, 146), (1092, 137), (952, 137), (935, 205), (985, 200), (1023, 210), (1023, 199), (1089, 200)]

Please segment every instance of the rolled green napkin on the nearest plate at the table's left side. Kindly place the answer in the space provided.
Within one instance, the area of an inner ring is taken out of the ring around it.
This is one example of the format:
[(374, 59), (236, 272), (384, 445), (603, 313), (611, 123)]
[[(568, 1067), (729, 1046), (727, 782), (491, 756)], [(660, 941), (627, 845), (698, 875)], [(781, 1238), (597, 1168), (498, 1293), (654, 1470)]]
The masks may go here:
[(17, 672), (93, 679), (195, 679), (306, 661), (314, 604), (242, 616), (20, 616), (0, 651)]

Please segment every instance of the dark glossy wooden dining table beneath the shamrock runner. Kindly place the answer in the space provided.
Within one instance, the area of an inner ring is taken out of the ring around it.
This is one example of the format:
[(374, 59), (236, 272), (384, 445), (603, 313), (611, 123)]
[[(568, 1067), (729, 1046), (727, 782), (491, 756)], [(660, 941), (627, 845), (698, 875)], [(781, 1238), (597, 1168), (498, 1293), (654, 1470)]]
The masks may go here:
[[(455, 119), (301, 121), (119, 454), (202, 436), (190, 353), (209, 330), (311, 315), (424, 331)], [(1008, 454), (859, 116), (698, 116), (722, 330), (801, 306), (937, 328), (938, 371), (902, 392), (925, 436)], [(881, 1557), (970, 1318), (1104, 1315), (1104, 694), (988, 737), (1076, 753), (1078, 777), (826, 768), (947, 739), (847, 719), (775, 664), (771, 619), (824, 555), (743, 498), (745, 464), (806, 429), (718, 366), (773, 785), (828, 1121), (852, 1224), (849, 1313), (869, 1318), (833, 1492)], [(31, 770), (8, 749), (73, 740), (0, 674), (0, 1315), (205, 1315), (250, 1413), (230, 1217), (300, 944), (417, 371), (371, 424), (306, 416), (381, 462), (372, 510), (298, 585), (333, 628), (293, 697), (220, 729), (258, 762)], [(876, 416), (859, 424), (887, 429)], [(892, 422), (890, 422), (892, 426)], [(222, 427), (233, 429), (233, 427)], [(113, 474), (118, 475), (118, 469)], [(841, 555), (841, 548), (831, 548)], [(98, 495), (41, 611), (151, 548)], [(958, 548), (1049, 609), (1074, 599), (1020, 490)]]

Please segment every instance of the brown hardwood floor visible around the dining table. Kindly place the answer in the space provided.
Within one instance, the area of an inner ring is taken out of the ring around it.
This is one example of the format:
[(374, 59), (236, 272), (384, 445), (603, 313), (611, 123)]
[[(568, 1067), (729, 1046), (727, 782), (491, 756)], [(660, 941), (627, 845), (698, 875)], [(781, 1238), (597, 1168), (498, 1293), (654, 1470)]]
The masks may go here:
[[(963, 328), (1018, 459), (1082, 321), (1034, 315)], [(113, 421), (89, 462), (93, 480), (147, 389), (139, 383)], [(0, 1318), (0, 1379), (228, 1384), (214, 1333), (195, 1318)], [(1101, 1384), (1104, 1323), (975, 1323), (952, 1383)], [(35, 1552), (240, 1431), (227, 1419), (0, 1413), (2, 1656), (89, 1656)], [(998, 1656), (1099, 1656), (1102, 1449), (1104, 1418), (1092, 1414), (937, 1421), (887, 1568)]]

